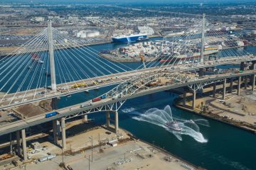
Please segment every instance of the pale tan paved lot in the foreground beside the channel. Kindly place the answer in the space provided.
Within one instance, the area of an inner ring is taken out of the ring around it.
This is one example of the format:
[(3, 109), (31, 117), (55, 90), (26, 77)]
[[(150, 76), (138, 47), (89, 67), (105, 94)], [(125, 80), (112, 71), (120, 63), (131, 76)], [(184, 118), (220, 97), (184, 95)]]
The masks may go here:
[[(85, 123), (84, 123), (85, 124)], [(82, 128), (82, 124), (74, 123), (70, 124), (69, 130), (74, 130), (75, 127)], [(107, 132), (107, 133), (106, 133)], [(66, 166), (71, 166), (74, 170), (85, 170), (89, 169), (89, 157), (92, 162), (90, 162), (90, 169), (186, 169), (184, 168), (184, 162), (179, 161), (175, 157), (164, 154), (158, 149), (147, 145), (144, 142), (139, 140), (129, 140), (128, 142), (121, 142), (116, 147), (110, 145), (102, 145), (102, 151), (99, 153), (98, 147), (93, 149), (91, 152), (90, 145), (91, 140), (90, 136), (93, 137), (93, 145), (98, 144), (98, 135), (100, 134), (101, 140), (114, 140), (115, 134), (109, 133), (109, 130), (105, 128), (100, 128), (96, 130), (90, 130), (88, 132), (82, 132), (79, 135), (74, 135), (68, 137), (68, 151), (81, 149), (82, 147), (87, 147), (84, 152), (79, 154), (63, 156), (61, 154), (60, 147), (53, 145), (50, 142), (41, 143), (42, 146), (47, 146), (48, 149), (40, 151), (36, 154), (28, 154), (32, 159), (39, 159), (45, 157), (48, 152), (50, 154), (57, 154), (57, 157), (54, 159), (48, 160), (46, 162), (38, 162), (37, 164), (30, 163), (25, 166), (14, 167), (13, 165), (8, 165), (6, 167), (1, 167), (0, 169), (27, 169), (27, 170), (46, 170), (46, 169), (61, 169), (59, 164), (65, 162)], [(129, 138), (123, 130), (120, 130), (122, 133), (122, 138)], [(88, 148), (89, 147), (89, 148)], [(167, 160), (166, 160), (167, 159)], [(186, 164), (186, 166), (189, 166)], [(192, 166), (190, 166), (192, 169)]]

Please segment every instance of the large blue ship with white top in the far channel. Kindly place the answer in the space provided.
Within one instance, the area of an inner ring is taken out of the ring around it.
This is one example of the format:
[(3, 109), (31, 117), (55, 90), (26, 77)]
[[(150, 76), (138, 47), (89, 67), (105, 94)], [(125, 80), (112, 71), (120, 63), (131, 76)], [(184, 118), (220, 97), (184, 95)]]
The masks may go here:
[(146, 34), (132, 34), (128, 36), (113, 37), (112, 42), (136, 42), (148, 39)]

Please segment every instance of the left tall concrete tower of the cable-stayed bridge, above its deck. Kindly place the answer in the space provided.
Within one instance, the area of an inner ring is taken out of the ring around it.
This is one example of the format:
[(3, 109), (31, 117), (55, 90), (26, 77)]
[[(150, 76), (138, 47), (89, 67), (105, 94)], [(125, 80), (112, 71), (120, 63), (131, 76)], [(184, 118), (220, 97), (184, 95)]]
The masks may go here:
[(49, 57), (50, 57), (51, 89), (53, 91), (56, 91), (56, 77), (55, 77), (55, 64), (54, 64), (54, 52), (53, 52), (53, 30), (52, 30), (51, 21), (48, 21), (48, 42), (49, 42)]

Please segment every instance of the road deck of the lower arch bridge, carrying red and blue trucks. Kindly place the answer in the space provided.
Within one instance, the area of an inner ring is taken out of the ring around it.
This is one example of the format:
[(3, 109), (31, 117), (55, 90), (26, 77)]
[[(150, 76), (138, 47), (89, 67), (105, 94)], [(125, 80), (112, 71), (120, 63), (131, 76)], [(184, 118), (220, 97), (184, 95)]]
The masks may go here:
[[(188, 85), (192, 85), (192, 84), (198, 84), (198, 83), (202, 83), (202, 82), (206, 82), (206, 81), (222, 80), (225, 78), (227, 79), (227, 78), (232, 78), (232, 77), (242, 77), (242, 76), (248, 76), (248, 75), (252, 75), (252, 74), (256, 74), (256, 71), (248, 70), (248, 71), (238, 73), (238, 74), (225, 73), (225, 74), (218, 74), (218, 75), (210, 75), (210, 76), (202, 77), (201, 79), (193, 79), (193, 81), (188, 81), (186, 83), (178, 82), (178, 83), (165, 85), (165, 86), (152, 86), (150, 89), (140, 89), (139, 91), (137, 91), (136, 94), (132, 94), (130, 96), (123, 96), (122, 98), (117, 98), (115, 100), (112, 100), (112, 98), (105, 98), (101, 101), (92, 103), (91, 106), (87, 106), (84, 108), (80, 108), (80, 104), (77, 104), (74, 106), (69, 106), (67, 108), (61, 108), (61, 109), (57, 110), (57, 112), (59, 114), (55, 115), (53, 117), (50, 117), (50, 118), (45, 118), (45, 115), (43, 114), (43, 115), (37, 115), (37, 116), (31, 117), (31, 118), (27, 118), (24, 120), (17, 120), (16, 122), (9, 123), (6, 125), (1, 125), (0, 126), (0, 136), (9, 134), (10, 132), (16, 132), (17, 130), (22, 130), (24, 128), (28, 128), (33, 125), (39, 125), (41, 123), (46, 123), (51, 120), (60, 119), (60, 118), (66, 117), (68, 115), (74, 115), (76, 113), (81, 113), (83, 111), (90, 111), (93, 108), (106, 106), (108, 104), (116, 103), (118, 101), (125, 101), (125, 100), (131, 99), (131, 98), (137, 98), (139, 96), (144, 96), (147, 94), (154, 94), (159, 91), (176, 89), (178, 87), (188, 86)], [(72, 109), (70, 109), (70, 108), (72, 108)]]

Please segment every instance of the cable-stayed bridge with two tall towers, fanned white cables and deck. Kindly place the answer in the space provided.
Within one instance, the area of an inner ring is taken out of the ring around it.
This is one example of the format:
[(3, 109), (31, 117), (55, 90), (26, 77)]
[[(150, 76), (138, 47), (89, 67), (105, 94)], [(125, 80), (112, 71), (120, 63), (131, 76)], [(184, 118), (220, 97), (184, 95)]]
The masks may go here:
[[(205, 30), (203, 34), (201, 30)], [(253, 60), (249, 52), (230, 48), (234, 41), (203, 19), (188, 28), (186, 35), (161, 45), (156, 57), (164, 56), (164, 62), (146, 62), (132, 68), (100, 57), (98, 51), (62, 35), (49, 23), (48, 28), (1, 60), (0, 108), (119, 84), (136, 74), (149, 75), (163, 69), (195, 70)], [(202, 52), (196, 49), (198, 44)], [(206, 44), (212, 50), (204, 50)], [(223, 44), (222, 50), (218, 49)], [(198, 53), (200, 57), (186, 56), (189, 53)]]

